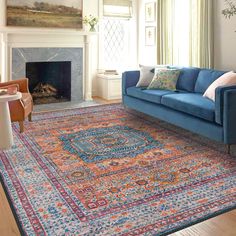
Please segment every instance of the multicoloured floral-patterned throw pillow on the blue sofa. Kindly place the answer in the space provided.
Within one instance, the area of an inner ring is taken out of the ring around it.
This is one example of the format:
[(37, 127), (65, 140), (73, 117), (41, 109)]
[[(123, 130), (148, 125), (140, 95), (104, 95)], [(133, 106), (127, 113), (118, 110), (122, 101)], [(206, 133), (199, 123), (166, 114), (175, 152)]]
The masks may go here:
[(176, 90), (176, 83), (180, 75), (180, 70), (157, 69), (152, 82), (147, 89), (167, 89)]

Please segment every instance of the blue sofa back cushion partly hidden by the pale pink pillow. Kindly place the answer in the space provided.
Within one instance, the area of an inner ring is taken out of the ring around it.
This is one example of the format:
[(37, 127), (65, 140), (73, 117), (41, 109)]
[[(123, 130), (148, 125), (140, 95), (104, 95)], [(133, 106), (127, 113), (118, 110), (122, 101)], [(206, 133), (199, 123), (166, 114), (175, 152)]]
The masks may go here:
[(194, 92), (205, 93), (207, 88), (224, 73), (225, 71), (202, 69), (198, 74)]

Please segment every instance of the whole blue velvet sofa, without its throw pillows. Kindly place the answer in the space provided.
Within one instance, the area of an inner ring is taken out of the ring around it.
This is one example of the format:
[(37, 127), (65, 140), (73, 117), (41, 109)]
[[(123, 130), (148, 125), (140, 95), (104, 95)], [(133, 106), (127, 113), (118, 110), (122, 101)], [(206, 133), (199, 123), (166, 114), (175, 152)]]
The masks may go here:
[(203, 97), (224, 71), (181, 68), (176, 91), (138, 88), (139, 71), (122, 74), (123, 104), (228, 145), (236, 144), (236, 86), (218, 87), (215, 102)]

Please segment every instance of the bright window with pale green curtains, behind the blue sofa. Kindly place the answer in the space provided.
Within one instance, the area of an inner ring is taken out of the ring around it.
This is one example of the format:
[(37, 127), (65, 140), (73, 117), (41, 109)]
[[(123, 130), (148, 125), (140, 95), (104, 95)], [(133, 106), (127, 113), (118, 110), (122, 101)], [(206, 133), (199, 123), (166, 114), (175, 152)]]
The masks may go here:
[(158, 64), (212, 67), (212, 0), (157, 0)]

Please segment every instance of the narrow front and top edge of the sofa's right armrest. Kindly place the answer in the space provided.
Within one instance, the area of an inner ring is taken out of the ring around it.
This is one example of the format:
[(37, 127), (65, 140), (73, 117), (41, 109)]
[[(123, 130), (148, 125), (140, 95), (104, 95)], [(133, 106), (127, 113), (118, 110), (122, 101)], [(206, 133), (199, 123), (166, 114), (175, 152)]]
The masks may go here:
[(220, 86), (216, 88), (215, 115), (216, 115), (216, 122), (220, 125), (223, 125), (223, 120), (224, 120), (224, 93), (227, 90), (232, 90), (232, 89), (236, 91), (236, 86)]

